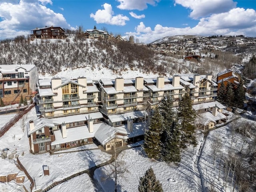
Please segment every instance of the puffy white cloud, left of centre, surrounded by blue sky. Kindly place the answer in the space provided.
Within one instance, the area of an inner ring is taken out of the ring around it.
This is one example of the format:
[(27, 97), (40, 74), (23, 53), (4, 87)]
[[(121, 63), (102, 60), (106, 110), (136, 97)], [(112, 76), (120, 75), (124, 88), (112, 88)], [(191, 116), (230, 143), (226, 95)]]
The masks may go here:
[(124, 26), (126, 25), (125, 22), (129, 20), (127, 16), (123, 16), (121, 14), (113, 16), (114, 11), (112, 10), (112, 6), (110, 4), (105, 3), (103, 8), (103, 10), (96, 11), (95, 14), (90, 14), (90, 17), (93, 18), (96, 23)]

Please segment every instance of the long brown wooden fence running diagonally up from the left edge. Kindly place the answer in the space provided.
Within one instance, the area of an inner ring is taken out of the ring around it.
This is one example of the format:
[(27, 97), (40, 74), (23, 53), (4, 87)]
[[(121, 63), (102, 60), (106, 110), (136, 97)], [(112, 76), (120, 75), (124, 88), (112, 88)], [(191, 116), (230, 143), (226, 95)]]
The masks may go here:
[(16, 122), (18, 122), (18, 120), (20, 120), (20, 118), (22, 118), (25, 114), (27, 114), (34, 106), (35, 106), (34, 103), (27, 106), (26, 108), (24, 108), (23, 111), (16, 114), (8, 123), (6, 123), (3, 127), (1, 127), (0, 137), (2, 137), (12, 126), (14, 126)]

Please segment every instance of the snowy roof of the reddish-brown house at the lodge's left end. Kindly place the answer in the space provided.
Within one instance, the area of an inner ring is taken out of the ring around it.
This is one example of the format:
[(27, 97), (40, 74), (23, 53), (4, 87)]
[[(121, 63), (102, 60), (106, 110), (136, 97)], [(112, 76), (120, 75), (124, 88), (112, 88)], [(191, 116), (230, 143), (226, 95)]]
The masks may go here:
[(34, 119), (34, 129), (30, 130), (30, 125), (29, 122), (27, 124), (27, 131), (28, 131), (28, 136), (31, 135), (32, 133), (41, 130), (44, 127), (55, 127), (55, 124), (53, 123), (52, 119), (47, 119), (47, 118), (38, 118)]

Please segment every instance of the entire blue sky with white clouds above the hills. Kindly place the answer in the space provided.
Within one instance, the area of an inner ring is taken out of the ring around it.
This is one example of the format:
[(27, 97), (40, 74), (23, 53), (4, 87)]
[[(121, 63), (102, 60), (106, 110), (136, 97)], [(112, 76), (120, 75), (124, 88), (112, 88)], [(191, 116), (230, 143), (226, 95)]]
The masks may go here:
[(149, 43), (174, 35), (256, 36), (256, 0), (0, 0), (0, 39), (94, 26)]

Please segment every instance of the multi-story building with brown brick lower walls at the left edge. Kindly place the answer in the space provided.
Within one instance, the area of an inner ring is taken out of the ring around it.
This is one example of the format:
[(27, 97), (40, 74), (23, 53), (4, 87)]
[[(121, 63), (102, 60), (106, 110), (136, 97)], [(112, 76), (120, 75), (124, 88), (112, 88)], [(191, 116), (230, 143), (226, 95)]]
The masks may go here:
[(37, 81), (38, 71), (34, 65), (0, 65), (0, 97), (4, 104), (18, 103), (21, 95), (32, 96)]

